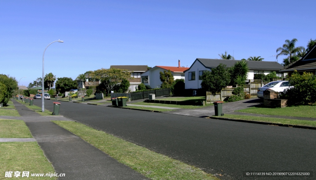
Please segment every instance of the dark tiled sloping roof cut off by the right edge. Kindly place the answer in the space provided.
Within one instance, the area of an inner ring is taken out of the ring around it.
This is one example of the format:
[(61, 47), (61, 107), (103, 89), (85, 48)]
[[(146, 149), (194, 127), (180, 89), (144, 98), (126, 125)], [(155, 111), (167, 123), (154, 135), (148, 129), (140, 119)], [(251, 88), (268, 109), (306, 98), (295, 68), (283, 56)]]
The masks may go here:
[(316, 44), (302, 57), (284, 67), (282, 71), (316, 69)]

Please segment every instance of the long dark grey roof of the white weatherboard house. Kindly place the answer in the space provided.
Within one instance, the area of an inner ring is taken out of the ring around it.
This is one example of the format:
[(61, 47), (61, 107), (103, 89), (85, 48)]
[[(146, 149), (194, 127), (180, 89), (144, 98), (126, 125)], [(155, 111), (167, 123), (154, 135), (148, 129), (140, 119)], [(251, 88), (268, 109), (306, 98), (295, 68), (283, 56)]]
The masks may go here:
[[(225, 59), (203, 59), (197, 58), (197, 61), (201, 62), (207, 68), (216, 68), (219, 64), (224, 64), (226, 67), (234, 66), (237, 61), (241, 60), (225, 60)], [(246, 61), (249, 69), (251, 70), (274, 70), (280, 71), (284, 67), (274, 61)]]

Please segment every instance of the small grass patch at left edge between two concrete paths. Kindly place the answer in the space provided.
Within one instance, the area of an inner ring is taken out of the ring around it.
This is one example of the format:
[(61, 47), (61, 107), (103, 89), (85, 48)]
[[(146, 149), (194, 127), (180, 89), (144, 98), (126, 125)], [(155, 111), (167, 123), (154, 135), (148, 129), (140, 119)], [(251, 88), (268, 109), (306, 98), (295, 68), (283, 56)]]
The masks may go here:
[(22, 120), (0, 119), (0, 138), (31, 138), (30, 130)]

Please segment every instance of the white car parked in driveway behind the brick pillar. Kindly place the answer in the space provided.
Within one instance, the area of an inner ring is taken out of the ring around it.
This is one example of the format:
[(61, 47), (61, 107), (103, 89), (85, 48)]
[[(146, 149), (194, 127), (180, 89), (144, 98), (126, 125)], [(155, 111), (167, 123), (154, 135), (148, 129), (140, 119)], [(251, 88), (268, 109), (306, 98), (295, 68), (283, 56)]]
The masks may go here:
[(289, 81), (272, 81), (268, 84), (265, 84), (261, 88), (258, 88), (258, 98), (263, 98), (263, 91), (264, 90), (274, 90), (276, 92), (279, 92), (279, 94), (282, 94), (283, 91), (290, 87)]

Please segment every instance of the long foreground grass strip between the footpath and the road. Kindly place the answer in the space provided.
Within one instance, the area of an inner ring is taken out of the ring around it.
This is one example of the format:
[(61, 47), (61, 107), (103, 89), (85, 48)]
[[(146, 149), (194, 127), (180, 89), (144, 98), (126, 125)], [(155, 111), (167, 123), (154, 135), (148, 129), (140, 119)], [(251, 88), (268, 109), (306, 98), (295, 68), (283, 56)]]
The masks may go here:
[(86, 125), (70, 121), (53, 122), (152, 180), (217, 179), (199, 168), (155, 153), (147, 148), (137, 146), (134, 143)]

